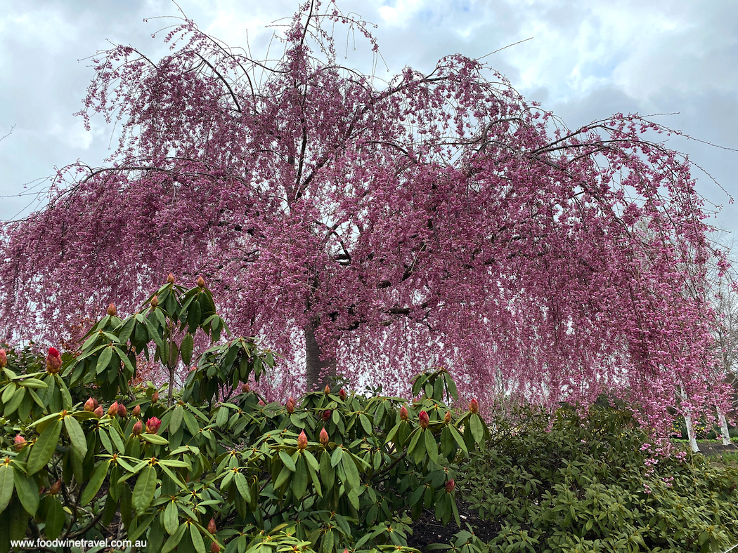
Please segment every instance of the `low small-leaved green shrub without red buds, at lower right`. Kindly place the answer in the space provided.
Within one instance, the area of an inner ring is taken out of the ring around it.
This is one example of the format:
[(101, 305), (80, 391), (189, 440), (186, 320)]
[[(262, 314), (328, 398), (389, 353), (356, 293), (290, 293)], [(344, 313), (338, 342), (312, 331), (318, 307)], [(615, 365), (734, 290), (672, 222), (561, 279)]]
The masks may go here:
[[(460, 483), (493, 552), (707, 552), (738, 541), (738, 471), (652, 456), (630, 413), (593, 407), (495, 421)], [(722, 548), (722, 549), (721, 549)]]

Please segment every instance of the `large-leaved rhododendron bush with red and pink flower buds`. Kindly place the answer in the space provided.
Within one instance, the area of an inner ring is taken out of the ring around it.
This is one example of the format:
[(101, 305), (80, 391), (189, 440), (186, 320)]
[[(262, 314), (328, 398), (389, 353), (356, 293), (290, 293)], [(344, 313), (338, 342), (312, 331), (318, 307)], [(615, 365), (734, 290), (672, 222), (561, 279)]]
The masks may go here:
[[(114, 538), (120, 520), (117, 537), (151, 552), (402, 553), (424, 507), (459, 523), (454, 463), (489, 431), (475, 413), (452, 416), (448, 372), (418, 375), (414, 403), (326, 389), (265, 404), (241, 383), (274, 356), (254, 338), (221, 343), (221, 331), (207, 288), (168, 282), (139, 313), (94, 324), (61, 373), (10, 349), (0, 551), (15, 539)], [(212, 345), (196, 355), (198, 333)], [(165, 402), (151, 383), (131, 388), (141, 354), (196, 366)]]

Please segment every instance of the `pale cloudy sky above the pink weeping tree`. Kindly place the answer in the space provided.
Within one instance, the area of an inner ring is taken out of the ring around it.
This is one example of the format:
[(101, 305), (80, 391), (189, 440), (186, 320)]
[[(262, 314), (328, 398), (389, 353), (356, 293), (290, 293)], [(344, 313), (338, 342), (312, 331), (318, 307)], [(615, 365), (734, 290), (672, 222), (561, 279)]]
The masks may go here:
[[(106, 158), (111, 128), (93, 119), (88, 133), (72, 115), (92, 77), (84, 58), (110, 43), (131, 44), (153, 57), (165, 53), (162, 37), (151, 35), (173, 22), (156, 17), (179, 15), (177, 5), (231, 46), (248, 41), (258, 57), (278, 32), (267, 26), (297, 7), (292, 0), (2, 4), (0, 136), (10, 134), (0, 142), (0, 220), (42, 206), (43, 201), (33, 202), (34, 192), (43, 189), (53, 167), (76, 159), (100, 165)], [(669, 145), (688, 153), (738, 198), (738, 153), (730, 150), (738, 149), (734, 0), (339, 0), (338, 5), (343, 13), (360, 13), (378, 25), (384, 60), (379, 76), (407, 65), (430, 71), (444, 55), (477, 58), (532, 37), (486, 58), (528, 100), (542, 102), (569, 127), (615, 112), (669, 114), (654, 119), (702, 141), (677, 138)], [(367, 61), (348, 54), (359, 67)], [(700, 170), (694, 176), (703, 196), (723, 206), (709, 222), (738, 234), (738, 209), (728, 205), (729, 196)]]

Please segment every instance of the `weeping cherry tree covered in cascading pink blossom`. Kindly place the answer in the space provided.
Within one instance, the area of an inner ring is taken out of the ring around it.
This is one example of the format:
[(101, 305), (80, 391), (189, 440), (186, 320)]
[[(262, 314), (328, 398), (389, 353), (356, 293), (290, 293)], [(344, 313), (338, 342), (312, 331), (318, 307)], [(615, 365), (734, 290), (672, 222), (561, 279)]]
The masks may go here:
[(188, 20), (160, 60), (100, 52), (80, 113), (120, 142), (4, 226), (4, 330), (48, 338), (202, 274), (232, 330), (283, 355), (266, 396), (335, 374), (404, 393), (435, 356), (488, 406), (607, 390), (656, 424), (723, 402), (714, 253), (689, 164), (644, 138), (662, 128), (616, 114), (569, 130), (463, 55), (382, 83), (340, 66), (342, 24), (376, 49), (314, 1), (278, 60)]

